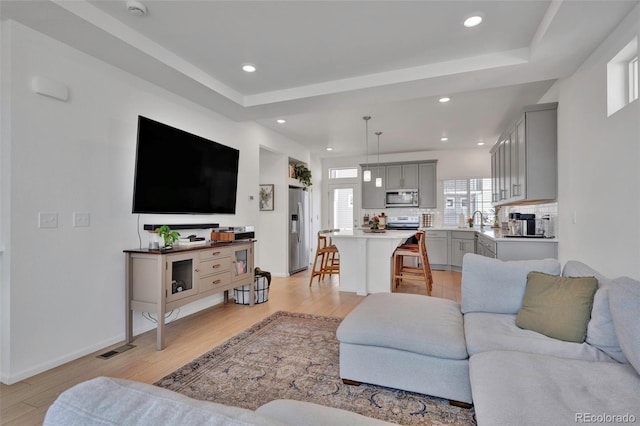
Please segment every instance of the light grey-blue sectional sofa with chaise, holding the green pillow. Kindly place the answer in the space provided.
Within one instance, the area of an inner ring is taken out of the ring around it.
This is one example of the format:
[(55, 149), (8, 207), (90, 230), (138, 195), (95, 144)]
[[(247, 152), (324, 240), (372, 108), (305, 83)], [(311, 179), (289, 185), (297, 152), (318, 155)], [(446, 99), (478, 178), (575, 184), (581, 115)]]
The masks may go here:
[[(597, 279), (584, 342), (516, 325), (531, 271)], [(467, 254), (461, 305), (370, 295), (338, 339), (346, 381), (473, 402), (481, 426), (640, 422), (640, 282), (580, 262)]]

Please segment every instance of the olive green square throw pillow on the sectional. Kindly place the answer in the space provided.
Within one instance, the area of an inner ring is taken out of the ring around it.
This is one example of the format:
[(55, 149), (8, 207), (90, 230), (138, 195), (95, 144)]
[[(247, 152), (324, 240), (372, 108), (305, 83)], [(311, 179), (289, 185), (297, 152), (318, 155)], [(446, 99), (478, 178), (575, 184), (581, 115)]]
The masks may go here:
[(595, 277), (557, 277), (529, 272), (516, 325), (554, 339), (582, 343), (596, 290)]

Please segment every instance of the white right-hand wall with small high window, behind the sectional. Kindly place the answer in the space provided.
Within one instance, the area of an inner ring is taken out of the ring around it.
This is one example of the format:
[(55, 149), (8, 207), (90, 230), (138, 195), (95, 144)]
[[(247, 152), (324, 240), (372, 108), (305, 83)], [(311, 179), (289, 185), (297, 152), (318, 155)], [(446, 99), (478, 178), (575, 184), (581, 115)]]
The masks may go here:
[(640, 101), (607, 117), (607, 62), (634, 36), (640, 5), (544, 101), (559, 102), (560, 260), (640, 279)]

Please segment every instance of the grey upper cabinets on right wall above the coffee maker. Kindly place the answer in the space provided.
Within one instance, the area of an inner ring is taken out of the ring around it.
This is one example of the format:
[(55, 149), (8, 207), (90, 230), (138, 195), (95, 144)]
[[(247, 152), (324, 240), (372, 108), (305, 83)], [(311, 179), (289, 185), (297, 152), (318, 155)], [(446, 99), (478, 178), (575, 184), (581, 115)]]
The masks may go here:
[(557, 197), (557, 103), (532, 105), (491, 149), (493, 203)]

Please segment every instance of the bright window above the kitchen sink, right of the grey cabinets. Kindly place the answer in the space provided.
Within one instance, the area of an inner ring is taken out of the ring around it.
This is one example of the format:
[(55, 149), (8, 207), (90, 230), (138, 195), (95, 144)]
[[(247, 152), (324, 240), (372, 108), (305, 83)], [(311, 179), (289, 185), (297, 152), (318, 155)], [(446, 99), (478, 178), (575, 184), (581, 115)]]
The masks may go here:
[[(491, 178), (452, 179), (444, 181), (444, 225), (458, 225), (460, 214), (466, 219), (475, 211), (482, 212), (485, 225), (495, 219), (491, 205)], [(477, 221), (480, 218), (476, 215)]]

